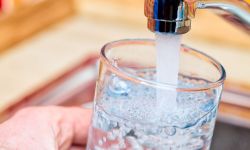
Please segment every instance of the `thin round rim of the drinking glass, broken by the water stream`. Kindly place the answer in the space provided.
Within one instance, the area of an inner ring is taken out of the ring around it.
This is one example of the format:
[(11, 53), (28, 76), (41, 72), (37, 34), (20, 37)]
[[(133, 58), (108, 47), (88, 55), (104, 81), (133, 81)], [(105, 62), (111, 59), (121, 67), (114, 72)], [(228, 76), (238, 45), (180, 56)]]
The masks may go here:
[(113, 42), (109, 42), (107, 44), (105, 44), (102, 49), (101, 49), (101, 53), (100, 53), (100, 60), (107, 65), (108, 69), (118, 75), (119, 77), (126, 79), (126, 80), (130, 80), (132, 82), (135, 83), (140, 83), (146, 86), (150, 86), (150, 87), (154, 87), (154, 88), (160, 88), (160, 89), (166, 89), (166, 90), (175, 90), (178, 92), (199, 92), (199, 91), (206, 91), (209, 90), (211, 88), (216, 88), (219, 87), (221, 85), (223, 85), (224, 80), (226, 79), (226, 72), (224, 67), (214, 58), (208, 56), (207, 54), (195, 50), (189, 46), (186, 46), (184, 44), (181, 45), (182, 48), (191, 50), (192, 52), (197, 53), (198, 55), (205, 57), (206, 61), (209, 63), (212, 63), (214, 67), (216, 67), (219, 72), (220, 72), (220, 78), (215, 81), (215, 82), (210, 82), (207, 83), (206, 85), (202, 86), (202, 87), (195, 87), (195, 88), (182, 88), (182, 87), (178, 87), (178, 85), (172, 85), (172, 84), (168, 84), (168, 83), (160, 83), (157, 81), (152, 81), (152, 80), (147, 80), (141, 77), (138, 77), (136, 75), (133, 75), (129, 72), (126, 72), (122, 69), (120, 69), (119, 67), (117, 67), (116, 65), (114, 65), (112, 63), (112, 61), (107, 57), (106, 52), (109, 49), (115, 48), (115, 47), (119, 47), (122, 45), (126, 45), (126, 44), (144, 44), (144, 45), (152, 45), (155, 44), (155, 40), (153, 39), (122, 39), (122, 40), (117, 40), (117, 41), (113, 41)]

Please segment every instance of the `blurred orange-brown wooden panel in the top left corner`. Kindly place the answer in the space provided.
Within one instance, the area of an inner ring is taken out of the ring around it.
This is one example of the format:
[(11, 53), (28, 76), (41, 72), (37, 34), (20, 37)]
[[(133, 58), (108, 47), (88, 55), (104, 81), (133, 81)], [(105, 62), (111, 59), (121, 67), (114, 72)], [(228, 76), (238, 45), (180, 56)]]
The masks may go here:
[(74, 13), (73, 0), (43, 0), (16, 5), (18, 8), (11, 12), (0, 13), (0, 53)]

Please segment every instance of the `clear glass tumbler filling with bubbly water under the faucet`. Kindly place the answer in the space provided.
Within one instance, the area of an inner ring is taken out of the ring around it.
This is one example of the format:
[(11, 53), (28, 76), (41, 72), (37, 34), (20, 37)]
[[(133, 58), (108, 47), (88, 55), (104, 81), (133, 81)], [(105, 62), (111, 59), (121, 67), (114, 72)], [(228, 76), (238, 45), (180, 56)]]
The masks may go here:
[[(102, 48), (88, 150), (209, 149), (223, 66), (182, 46), (178, 85), (158, 83), (155, 68), (154, 40), (120, 40)], [(166, 95), (159, 98), (159, 91)], [(171, 109), (168, 94), (176, 95)]]

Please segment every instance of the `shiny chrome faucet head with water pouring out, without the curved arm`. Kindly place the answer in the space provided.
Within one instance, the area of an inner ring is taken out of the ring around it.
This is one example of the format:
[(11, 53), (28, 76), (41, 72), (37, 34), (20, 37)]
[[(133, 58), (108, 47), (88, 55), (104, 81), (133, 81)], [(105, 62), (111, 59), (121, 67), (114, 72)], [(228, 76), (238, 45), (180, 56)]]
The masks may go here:
[(194, 0), (145, 0), (144, 13), (152, 32), (184, 34), (191, 28)]

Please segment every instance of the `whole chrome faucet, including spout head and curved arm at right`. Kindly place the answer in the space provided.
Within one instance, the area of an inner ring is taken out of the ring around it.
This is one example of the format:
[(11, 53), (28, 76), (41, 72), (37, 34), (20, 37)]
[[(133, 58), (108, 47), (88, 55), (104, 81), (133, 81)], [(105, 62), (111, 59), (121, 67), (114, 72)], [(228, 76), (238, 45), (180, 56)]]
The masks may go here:
[(191, 29), (197, 9), (214, 9), (250, 34), (249, 0), (145, 0), (144, 13), (152, 32), (184, 34)]

